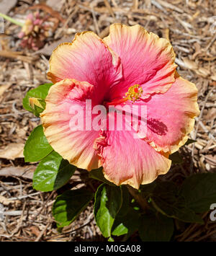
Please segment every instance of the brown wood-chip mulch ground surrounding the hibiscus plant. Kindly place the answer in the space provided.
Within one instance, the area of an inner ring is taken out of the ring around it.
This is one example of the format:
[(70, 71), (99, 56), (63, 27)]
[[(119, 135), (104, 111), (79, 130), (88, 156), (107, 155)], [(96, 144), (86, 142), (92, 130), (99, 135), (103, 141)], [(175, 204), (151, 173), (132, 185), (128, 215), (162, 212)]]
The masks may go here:
[[(10, 6), (11, 5), (11, 6)], [(35, 6), (37, 5), (37, 6)], [(35, 7), (32, 7), (35, 6)], [(23, 146), (40, 119), (22, 107), (25, 93), (46, 78), (50, 53), (76, 32), (92, 30), (108, 35), (109, 25), (140, 24), (171, 41), (178, 72), (199, 89), (201, 113), (190, 137), (197, 142), (181, 149), (184, 163), (172, 165), (161, 180), (179, 182), (192, 173), (216, 171), (216, 1), (211, 0), (47, 0), (1, 1), (0, 12), (24, 22), (28, 13), (40, 9), (49, 15), (55, 30), (40, 50), (20, 47), (20, 27), (4, 22), (0, 34), (0, 241), (105, 241), (93, 216), (93, 203), (76, 221), (59, 233), (51, 209), (56, 195), (71, 187), (96, 181), (76, 171), (68, 185), (53, 193), (32, 189), (37, 163), (24, 163)], [(179, 226), (176, 241), (215, 241), (216, 224), (204, 214), (204, 225)], [(136, 241), (138, 235), (131, 238)]]

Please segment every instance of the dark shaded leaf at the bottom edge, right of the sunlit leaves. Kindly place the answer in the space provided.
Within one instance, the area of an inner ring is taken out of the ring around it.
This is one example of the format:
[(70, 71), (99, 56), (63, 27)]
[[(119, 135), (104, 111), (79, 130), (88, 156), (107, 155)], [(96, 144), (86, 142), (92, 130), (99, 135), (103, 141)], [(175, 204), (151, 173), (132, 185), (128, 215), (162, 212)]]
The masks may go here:
[(174, 233), (174, 221), (161, 213), (140, 218), (139, 234), (143, 242), (168, 242)]

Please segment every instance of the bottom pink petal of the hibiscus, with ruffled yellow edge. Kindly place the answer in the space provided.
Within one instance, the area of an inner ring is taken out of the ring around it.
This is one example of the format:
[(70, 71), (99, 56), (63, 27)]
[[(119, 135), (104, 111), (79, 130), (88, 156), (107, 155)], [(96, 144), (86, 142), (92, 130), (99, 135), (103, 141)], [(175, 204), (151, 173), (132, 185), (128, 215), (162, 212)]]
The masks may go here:
[(128, 184), (138, 189), (166, 174), (171, 166), (168, 154), (134, 138), (132, 131), (103, 131), (94, 148), (101, 157), (104, 177), (116, 185)]

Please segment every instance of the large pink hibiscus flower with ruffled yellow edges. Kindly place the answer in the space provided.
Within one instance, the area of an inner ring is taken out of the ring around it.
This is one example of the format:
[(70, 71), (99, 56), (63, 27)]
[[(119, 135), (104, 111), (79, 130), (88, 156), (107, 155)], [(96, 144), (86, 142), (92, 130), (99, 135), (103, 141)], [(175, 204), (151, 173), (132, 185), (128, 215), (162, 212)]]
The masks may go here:
[[(138, 188), (166, 174), (169, 154), (185, 144), (199, 115), (197, 88), (176, 73), (174, 61), (168, 40), (140, 25), (114, 24), (103, 40), (81, 32), (72, 43), (60, 44), (50, 58), (48, 78), (55, 84), (41, 114), (53, 149), (79, 168), (104, 167), (116, 185)], [(86, 100), (92, 107), (146, 106), (145, 137), (135, 138), (133, 128), (73, 131), (71, 107), (85, 110)]]

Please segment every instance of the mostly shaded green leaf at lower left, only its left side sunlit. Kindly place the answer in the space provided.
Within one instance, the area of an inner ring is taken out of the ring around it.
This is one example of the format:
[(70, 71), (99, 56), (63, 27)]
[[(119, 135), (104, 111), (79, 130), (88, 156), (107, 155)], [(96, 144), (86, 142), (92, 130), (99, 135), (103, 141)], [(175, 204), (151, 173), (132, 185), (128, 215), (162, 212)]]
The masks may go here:
[(58, 195), (53, 203), (53, 216), (58, 222), (58, 227), (71, 224), (84, 211), (93, 197), (93, 193), (83, 188), (68, 190)]

